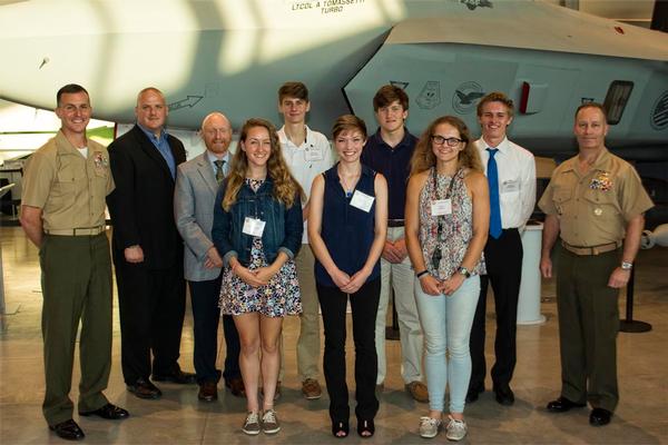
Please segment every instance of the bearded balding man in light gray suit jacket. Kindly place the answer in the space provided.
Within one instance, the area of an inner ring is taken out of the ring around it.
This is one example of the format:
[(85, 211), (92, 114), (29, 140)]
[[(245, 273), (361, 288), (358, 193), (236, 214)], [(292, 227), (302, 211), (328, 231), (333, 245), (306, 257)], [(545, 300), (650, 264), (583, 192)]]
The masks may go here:
[[(223, 259), (212, 241), (216, 192), (229, 171), (232, 156), (227, 148), (232, 140), (232, 126), (220, 112), (212, 112), (202, 122), (202, 137), (206, 151), (178, 166), (174, 212), (176, 226), (186, 249), (185, 277), (190, 287), (195, 330), (194, 362), (200, 400), (218, 398), (216, 369), (218, 338), (218, 296)], [(223, 330), (227, 344), (225, 358), (225, 386), (232, 394), (243, 397), (244, 382), (239, 370), (239, 337), (230, 315), (223, 316)]]

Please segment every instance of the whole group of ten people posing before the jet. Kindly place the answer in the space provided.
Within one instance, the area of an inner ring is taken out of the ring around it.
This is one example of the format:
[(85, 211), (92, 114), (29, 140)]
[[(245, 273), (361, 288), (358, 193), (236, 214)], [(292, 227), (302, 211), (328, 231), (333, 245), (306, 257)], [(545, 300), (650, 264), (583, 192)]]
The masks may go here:
[[(392, 85), (380, 88), (373, 106), (377, 131), (369, 136), (362, 119), (341, 116), (332, 152), (327, 138), (306, 126), (308, 90), (286, 82), (278, 90), (281, 129), (248, 119), (230, 154), (230, 122), (212, 112), (200, 130), (206, 150), (186, 161), (183, 144), (165, 128), (168, 109), (159, 90), (139, 92), (136, 126), (107, 150), (86, 137), (88, 92), (78, 85), (61, 88), (61, 129), (28, 162), (21, 208), (21, 224), (40, 251), (49, 428), (67, 439), (85, 436), (69, 398), (79, 320), (79, 414), (129, 415), (102, 394), (111, 352), (110, 258), (122, 375), (137, 397), (159, 398), (153, 382), (197, 383), (198, 398), (212, 402), (223, 376), (232, 394), (247, 399), (243, 432), (277, 433), (283, 318), (301, 317), (297, 373), (304, 397), (315, 399), (322, 395), (320, 308), (332, 434), (346, 437), (350, 300), (356, 429), (371, 437), (386, 375), (384, 326), (393, 290), (402, 378), (414, 399), (429, 402), (419, 433), (435, 437), (445, 425), (446, 437), (460, 441), (468, 432), (464, 406), (484, 390), (491, 281), (492, 388), (498, 403), (512, 405), (521, 234), (536, 205), (533, 156), (507, 137), (513, 102), (501, 92), (480, 100), (478, 140), (454, 116), (439, 117), (414, 137), (405, 128), (409, 97)], [(578, 108), (579, 154), (554, 170), (539, 202), (547, 215), (544, 277), (552, 276), (558, 238), (562, 247), (562, 388), (548, 411), (589, 403), (593, 425), (609, 423), (618, 402), (618, 288), (629, 279), (642, 214), (651, 207), (633, 168), (605, 147), (607, 130), (601, 106)], [(195, 374), (178, 364), (186, 280)], [(220, 315), (223, 373), (216, 368)]]

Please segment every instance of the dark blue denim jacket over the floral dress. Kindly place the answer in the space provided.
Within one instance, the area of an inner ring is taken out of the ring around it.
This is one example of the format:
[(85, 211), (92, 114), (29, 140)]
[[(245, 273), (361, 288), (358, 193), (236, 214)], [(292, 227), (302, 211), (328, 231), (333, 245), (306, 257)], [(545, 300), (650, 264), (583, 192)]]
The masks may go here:
[(267, 178), (257, 191), (253, 191), (244, 182), (236, 201), (229, 211), (225, 211), (223, 197), (226, 186), (227, 182), (224, 182), (216, 196), (212, 228), (214, 245), (223, 256), (224, 265), (228, 266), (232, 257), (237, 257), (242, 265), (248, 266), (253, 236), (243, 233), (246, 217), (266, 222), (262, 234), (262, 245), (268, 264), (276, 259), (279, 251), (284, 251), (291, 259), (294, 258), (302, 247), (304, 231), (299, 197), (296, 196), (292, 207), (286, 208), (272, 196), (274, 182), (271, 178)]

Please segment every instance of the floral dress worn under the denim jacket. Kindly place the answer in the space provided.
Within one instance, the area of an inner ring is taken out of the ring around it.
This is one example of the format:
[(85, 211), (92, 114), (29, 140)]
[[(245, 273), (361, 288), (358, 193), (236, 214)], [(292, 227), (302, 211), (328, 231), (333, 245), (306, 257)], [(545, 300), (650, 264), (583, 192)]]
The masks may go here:
[[(262, 238), (253, 240), (248, 269), (266, 267)], [(219, 305), (223, 314), (240, 315), (259, 313), (267, 317), (284, 317), (302, 313), (302, 296), (297, 268), (294, 260), (287, 260), (266, 286), (253, 287), (236, 276), (232, 268), (223, 271)]]

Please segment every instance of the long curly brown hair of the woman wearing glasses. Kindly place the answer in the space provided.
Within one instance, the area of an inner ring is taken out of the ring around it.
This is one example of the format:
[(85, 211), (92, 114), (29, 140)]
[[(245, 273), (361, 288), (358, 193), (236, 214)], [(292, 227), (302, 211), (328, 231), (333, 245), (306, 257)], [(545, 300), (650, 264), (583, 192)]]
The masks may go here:
[(413, 157), (411, 158), (411, 176), (424, 170), (429, 170), (436, 165), (436, 156), (432, 149), (431, 137), (436, 127), (441, 123), (448, 123), (456, 128), (460, 134), (460, 139), (463, 139), (466, 144), (464, 149), (458, 155), (458, 167), (483, 171), (482, 162), (480, 161), (480, 155), (478, 155), (478, 149), (471, 140), (471, 134), (464, 121), (454, 116), (441, 116), (431, 122), (429, 127), (426, 127), (426, 130), (424, 130), (420, 137), (420, 140), (418, 140), (418, 145), (415, 145), (415, 150), (413, 151)]

